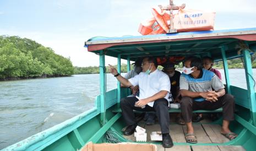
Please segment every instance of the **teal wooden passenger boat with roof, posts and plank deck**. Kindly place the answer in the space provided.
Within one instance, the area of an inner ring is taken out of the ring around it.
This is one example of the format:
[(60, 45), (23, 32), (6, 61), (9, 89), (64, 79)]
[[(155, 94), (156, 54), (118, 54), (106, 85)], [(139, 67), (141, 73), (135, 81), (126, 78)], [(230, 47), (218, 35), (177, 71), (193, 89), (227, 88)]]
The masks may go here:
[[(226, 92), (235, 96), (236, 101), (235, 121), (231, 123), (230, 127), (233, 132), (238, 134), (238, 137), (229, 141), (220, 135), (221, 119), (215, 122), (204, 121), (194, 124), (198, 143), (190, 144), (186, 143), (184, 139), (186, 128), (171, 122), (170, 133), (175, 146), (169, 149), (255, 150), (256, 99), (250, 55), (256, 51), (256, 28), (119, 38), (95, 37), (85, 42), (85, 47), (91, 53), (99, 55), (100, 95), (95, 98), (95, 107), (3, 150), (77, 150), (90, 141), (93, 143), (106, 142), (104, 139), (106, 132), (112, 132), (112, 135), (121, 142), (133, 142), (133, 136), (124, 137), (122, 135), (122, 129), (126, 125), (119, 108), (120, 99), (127, 96), (129, 90), (121, 88), (117, 82), (117, 89), (106, 92), (105, 56), (117, 58), (118, 72), (120, 72), (121, 59), (127, 60), (129, 71), (130, 61), (134, 61), (137, 57), (189, 55), (210, 55), (214, 57), (215, 61), (223, 61)], [(241, 57), (244, 61), (247, 90), (231, 85), (228, 78), (227, 60), (237, 57)], [(220, 108), (216, 111), (194, 112), (221, 111)], [(170, 109), (169, 112), (175, 114), (181, 111)], [(141, 121), (139, 125), (146, 129), (148, 135), (151, 131), (160, 130), (158, 124), (148, 126)], [(161, 147), (161, 142), (148, 141), (146, 143), (156, 144), (158, 150), (164, 150)], [(166, 150), (168, 149), (166, 148)]]

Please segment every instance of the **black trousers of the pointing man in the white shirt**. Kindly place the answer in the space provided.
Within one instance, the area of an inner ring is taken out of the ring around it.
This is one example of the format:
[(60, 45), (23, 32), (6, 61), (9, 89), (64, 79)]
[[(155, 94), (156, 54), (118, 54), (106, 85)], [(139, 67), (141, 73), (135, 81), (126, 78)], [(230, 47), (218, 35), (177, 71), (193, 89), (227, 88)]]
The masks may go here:
[(134, 107), (135, 102), (139, 101), (136, 97), (124, 97), (122, 98), (120, 105), (122, 109), (123, 118), (127, 125), (137, 124), (133, 109), (137, 111), (156, 112), (156, 116), (159, 119), (159, 124), (162, 133), (169, 133), (170, 117), (168, 112), (168, 101), (165, 98), (160, 98), (154, 102), (154, 106), (148, 105), (145, 108)]

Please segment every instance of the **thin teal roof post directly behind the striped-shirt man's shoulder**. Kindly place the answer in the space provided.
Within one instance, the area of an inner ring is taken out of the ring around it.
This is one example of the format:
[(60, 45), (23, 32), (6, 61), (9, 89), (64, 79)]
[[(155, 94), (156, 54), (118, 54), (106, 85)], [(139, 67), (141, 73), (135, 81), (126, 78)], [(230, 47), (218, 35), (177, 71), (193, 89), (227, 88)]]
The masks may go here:
[(227, 58), (226, 58), (225, 50), (226, 50), (225, 47), (221, 47), (221, 55), (222, 55), (223, 66), (224, 66), (224, 71), (225, 71), (225, 79), (226, 79), (227, 92), (228, 92), (228, 94), (231, 94), (230, 74), (228, 73)]

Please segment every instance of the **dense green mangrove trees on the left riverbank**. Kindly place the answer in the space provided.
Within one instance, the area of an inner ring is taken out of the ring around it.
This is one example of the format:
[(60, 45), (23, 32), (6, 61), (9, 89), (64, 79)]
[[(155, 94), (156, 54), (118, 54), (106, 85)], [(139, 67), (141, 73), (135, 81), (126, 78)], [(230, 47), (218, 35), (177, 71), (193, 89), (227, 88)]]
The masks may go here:
[(74, 73), (70, 59), (27, 38), (0, 36), (0, 79), (57, 77)]

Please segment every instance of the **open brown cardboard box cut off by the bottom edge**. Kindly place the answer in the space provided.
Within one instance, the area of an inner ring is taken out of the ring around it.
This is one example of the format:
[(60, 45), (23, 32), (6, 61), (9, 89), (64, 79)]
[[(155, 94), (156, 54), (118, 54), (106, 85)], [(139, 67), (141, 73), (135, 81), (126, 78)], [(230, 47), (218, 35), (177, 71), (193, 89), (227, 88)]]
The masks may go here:
[(138, 143), (101, 143), (93, 144), (89, 142), (81, 151), (156, 151), (155, 144), (138, 144)]

